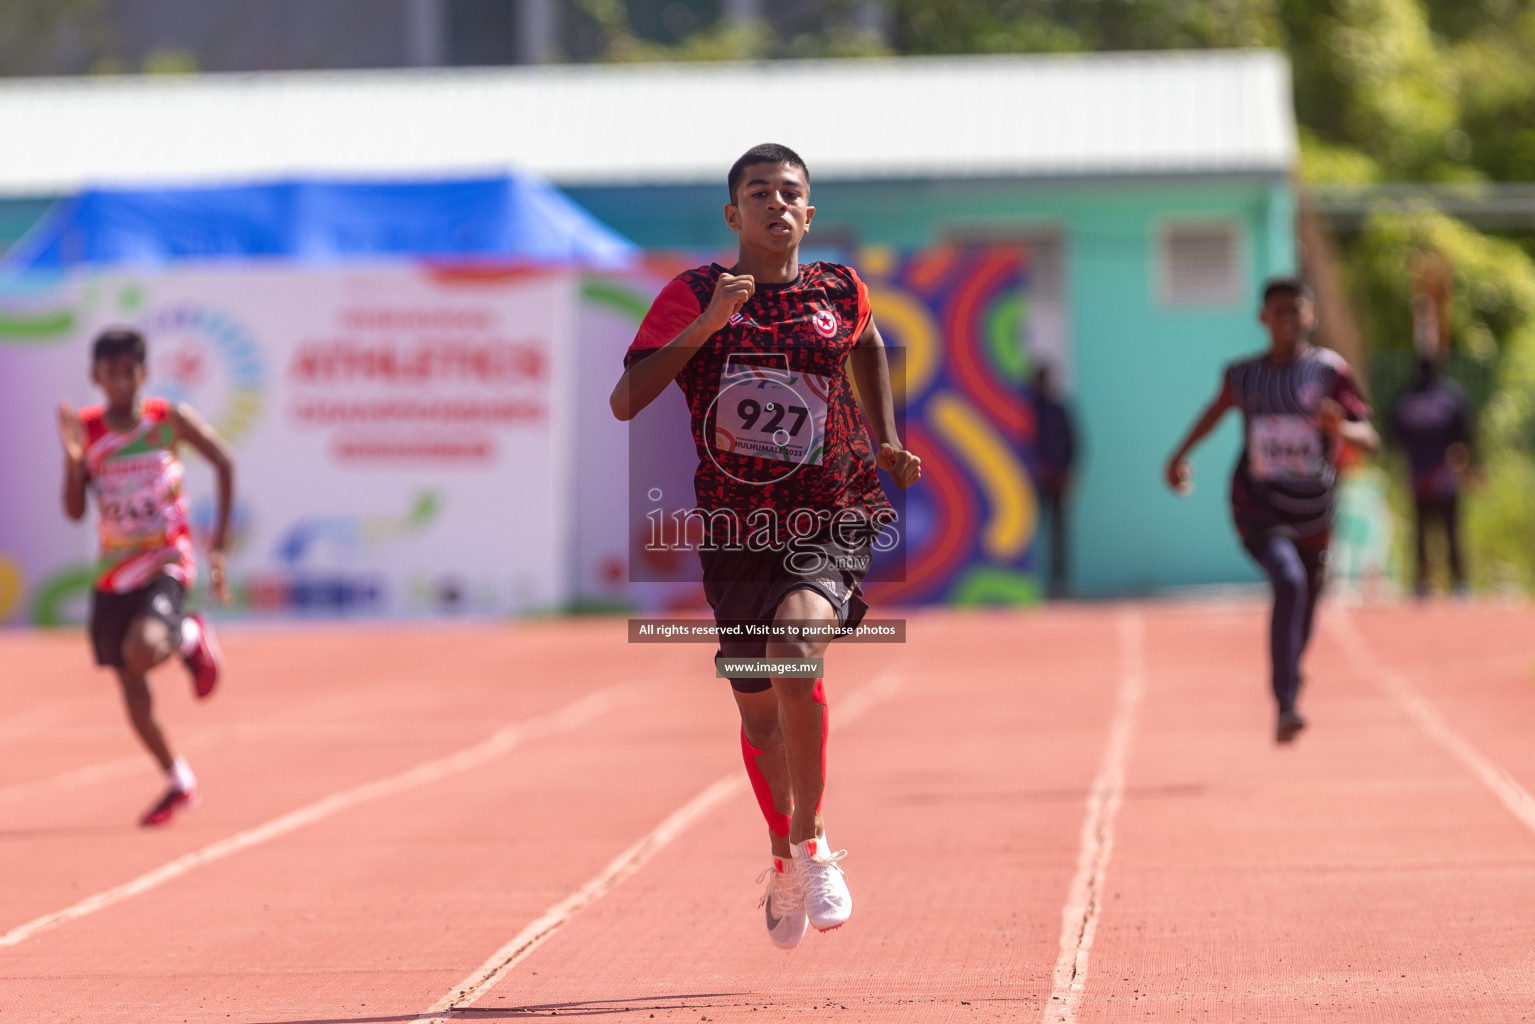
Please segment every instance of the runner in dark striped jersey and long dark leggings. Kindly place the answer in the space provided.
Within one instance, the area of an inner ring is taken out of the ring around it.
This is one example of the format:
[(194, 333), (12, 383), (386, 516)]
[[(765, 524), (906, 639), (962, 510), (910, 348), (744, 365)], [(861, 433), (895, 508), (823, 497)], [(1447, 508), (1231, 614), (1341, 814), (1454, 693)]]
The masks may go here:
[(1343, 444), (1374, 451), (1380, 438), (1348, 364), (1311, 344), (1315, 306), (1299, 278), (1263, 287), (1259, 319), (1269, 350), (1225, 368), (1220, 393), (1168, 459), (1167, 482), (1188, 493), (1188, 453), (1226, 410), (1242, 410), (1245, 444), (1231, 476), (1231, 516), (1242, 547), (1274, 586), (1274, 738), (1288, 743), (1306, 725), (1296, 711), (1300, 656), (1322, 594), (1339, 456)]

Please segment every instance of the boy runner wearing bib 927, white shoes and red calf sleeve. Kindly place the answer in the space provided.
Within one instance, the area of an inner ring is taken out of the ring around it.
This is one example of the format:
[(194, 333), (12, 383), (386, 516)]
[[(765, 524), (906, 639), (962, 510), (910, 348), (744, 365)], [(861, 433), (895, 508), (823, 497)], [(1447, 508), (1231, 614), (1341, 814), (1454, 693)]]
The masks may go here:
[[(800, 264), (810, 175), (784, 146), (757, 146), (728, 175), (735, 266), (674, 278), (651, 306), (612, 391), (632, 419), (672, 381), (692, 415), (694, 491), (705, 525), (705, 594), (721, 628), (841, 625), (863, 617), (870, 543), (895, 514), (875, 467), (909, 487), (921, 461), (901, 447), (884, 342), (858, 275)], [(858, 399), (878, 450), (858, 411)], [(820, 659), (824, 639), (723, 640), (715, 657)], [(829, 930), (852, 895), (821, 820), (827, 706), (820, 679), (731, 677), (741, 752), (768, 818), (772, 941)]]

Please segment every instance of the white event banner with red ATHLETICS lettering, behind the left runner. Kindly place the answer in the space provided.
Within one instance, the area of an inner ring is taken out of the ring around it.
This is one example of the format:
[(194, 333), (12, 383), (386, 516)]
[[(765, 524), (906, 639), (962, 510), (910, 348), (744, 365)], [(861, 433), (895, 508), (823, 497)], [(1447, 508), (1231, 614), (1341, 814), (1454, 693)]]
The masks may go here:
[[(61, 513), (54, 410), (60, 399), (101, 401), (89, 382), (91, 341), (109, 324), (147, 336), (146, 391), (189, 402), (233, 451), (232, 613), (413, 617), (566, 605), (577, 289), (569, 270), (418, 264), (77, 272), (8, 284), (0, 622), (84, 614), (94, 524)], [(206, 560), (213, 474), (190, 447), (181, 454)]]

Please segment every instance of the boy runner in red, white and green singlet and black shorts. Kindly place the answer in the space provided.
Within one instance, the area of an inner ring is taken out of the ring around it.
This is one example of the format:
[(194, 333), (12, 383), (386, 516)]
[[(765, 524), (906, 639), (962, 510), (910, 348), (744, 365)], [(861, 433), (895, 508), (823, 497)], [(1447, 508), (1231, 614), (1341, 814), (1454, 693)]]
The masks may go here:
[(180, 652), (193, 691), (207, 697), (223, 669), (212, 626), (196, 613), (186, 614), (196, 562), (177, 445), (190, 444), (218, 474), (209, 576), (213, 594), (224, 602), (233, 465), (229, 450), (189, 405), (140, 395), (146, 355), (138, 332), (103, 332), (91, 353), (91, 379), (106, 402), (78, 413), (60, 402), (58, 434), (64, 444), (64, 513), (81, 519), (87, 490), (97, 500), (101, 554), (91, 600), (97, 665), (117, 669), (134, 731), (166, 772), (164, 794), (140, 818), (147, 826), (164, 824), (198, 801), (196, 777), (170, 752), (155, 722), (147, 674)]

